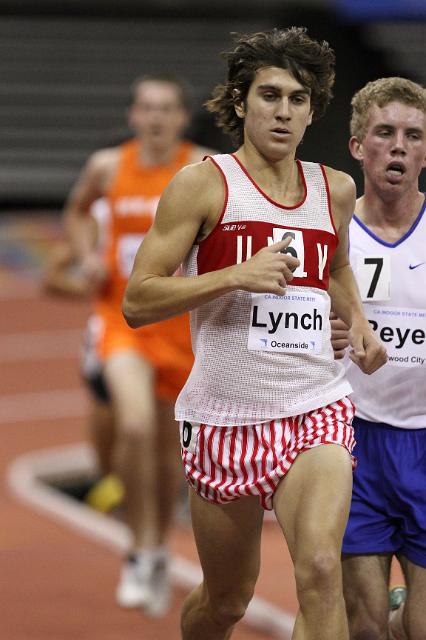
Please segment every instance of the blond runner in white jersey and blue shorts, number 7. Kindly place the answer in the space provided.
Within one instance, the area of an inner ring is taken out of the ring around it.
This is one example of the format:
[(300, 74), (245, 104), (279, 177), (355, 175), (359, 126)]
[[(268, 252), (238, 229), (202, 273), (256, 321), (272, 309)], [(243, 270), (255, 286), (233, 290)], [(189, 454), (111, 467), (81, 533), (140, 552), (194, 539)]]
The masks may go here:
[[(343, 542), (344, 591), (352, 638), (424, 640), (426, 204), (418, 178), (426, 164), (426, 91), (385, 78), (361, 89), (352, 106), (350, 149), (362, 163), (365, 193), (349, 228), (350, 260), (389, 360), (368, 384), (347, 362), (358, 466)], [(407, 600), (388, 623), (394, 555)]]

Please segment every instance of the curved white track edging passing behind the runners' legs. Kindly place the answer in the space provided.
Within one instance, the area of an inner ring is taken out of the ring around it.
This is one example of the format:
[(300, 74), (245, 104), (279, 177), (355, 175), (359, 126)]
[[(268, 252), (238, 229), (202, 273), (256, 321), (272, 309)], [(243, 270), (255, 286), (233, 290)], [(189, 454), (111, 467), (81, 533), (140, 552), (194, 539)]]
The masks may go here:
[[(122, 555), (129, 547), (129, 532), (123, 523), (94, 511), (47, 484), (55, 478), (63, 481), (67, 477), (93, 476), (94, 470), (92, 449), (83, 442), (19, 456), (7, 470), (7, 482), (20, 500), (37, 511), (65, 522), (75, 531)], [(199, 566), (181, 556), (172, 558), (171, 572), (173, 581), (181, 588), (191, 590), (201, 582)], [(244, 621), (280, 640), (290, 640), (294, 627), (293, 616), (258, 596), (251, 601)]]

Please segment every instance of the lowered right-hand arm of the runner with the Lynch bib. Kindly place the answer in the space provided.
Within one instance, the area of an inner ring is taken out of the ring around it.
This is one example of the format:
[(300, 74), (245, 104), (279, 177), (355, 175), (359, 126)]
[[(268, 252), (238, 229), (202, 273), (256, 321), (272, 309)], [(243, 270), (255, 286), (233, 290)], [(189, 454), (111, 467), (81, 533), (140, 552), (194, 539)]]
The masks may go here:
[(331, 209), (339, 244), (330, 265), (330, 297), (333, 311), (349, 327), (349, 357), (364, 373), (373, 373), (387, 359), (364, 315), (361, 298), (348, 257), (349, 222), (355, 208), (355, 185), (347, 174), (327, 169)]

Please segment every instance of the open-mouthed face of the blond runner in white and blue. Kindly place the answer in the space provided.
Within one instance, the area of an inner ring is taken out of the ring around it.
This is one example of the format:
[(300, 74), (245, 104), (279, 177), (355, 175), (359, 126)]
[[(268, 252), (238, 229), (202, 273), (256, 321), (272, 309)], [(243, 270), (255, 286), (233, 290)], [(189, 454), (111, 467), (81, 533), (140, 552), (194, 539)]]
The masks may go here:
[(363, 164), (365, 179), (381, 192), (417, 189), (426, 166), (426, 114), (401, 102), (373, 105), (362, 142), (350, 140), (354, 158)]

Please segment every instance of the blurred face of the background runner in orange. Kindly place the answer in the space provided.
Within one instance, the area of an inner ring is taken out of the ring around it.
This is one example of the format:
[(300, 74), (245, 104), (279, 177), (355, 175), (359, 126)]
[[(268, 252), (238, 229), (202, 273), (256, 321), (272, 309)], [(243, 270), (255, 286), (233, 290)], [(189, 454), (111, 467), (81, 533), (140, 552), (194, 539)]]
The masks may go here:
[(130, 107), (129, 123), (144, 144), (161, 149), (175, 144), (188, 124), (178, 87), (159, 80), (141, 82)]

